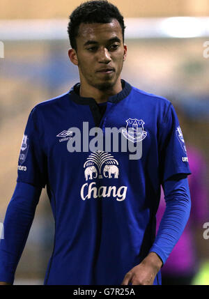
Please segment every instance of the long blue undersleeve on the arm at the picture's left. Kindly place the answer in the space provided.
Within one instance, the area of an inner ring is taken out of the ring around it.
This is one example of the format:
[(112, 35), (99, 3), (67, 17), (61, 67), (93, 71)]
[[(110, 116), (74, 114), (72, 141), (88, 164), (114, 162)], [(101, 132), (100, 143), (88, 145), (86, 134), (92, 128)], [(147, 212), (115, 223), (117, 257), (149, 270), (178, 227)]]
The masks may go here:
[(4, 236), (0, 240), (0, 282), (14, 282), (41, 190), (41, 187), (26, 183), (17, 183), (15, 187), (3, 222)]

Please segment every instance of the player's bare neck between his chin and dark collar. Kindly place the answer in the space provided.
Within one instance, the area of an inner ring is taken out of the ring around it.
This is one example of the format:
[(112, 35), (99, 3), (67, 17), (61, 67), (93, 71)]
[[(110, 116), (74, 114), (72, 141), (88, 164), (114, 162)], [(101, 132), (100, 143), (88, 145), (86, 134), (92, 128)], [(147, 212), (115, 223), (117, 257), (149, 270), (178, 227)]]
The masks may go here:
[(104, 91), (100, 91), (100, 89), (81, 82), (80, 96), (84, 98), (94, 98), (96, 102), (102, 103), (107, 102), (111, 95), (120, 93), (122, 89), (121, 79), (118, 79), (114, 86), (111, 86), (111, 88), (105, 89)]

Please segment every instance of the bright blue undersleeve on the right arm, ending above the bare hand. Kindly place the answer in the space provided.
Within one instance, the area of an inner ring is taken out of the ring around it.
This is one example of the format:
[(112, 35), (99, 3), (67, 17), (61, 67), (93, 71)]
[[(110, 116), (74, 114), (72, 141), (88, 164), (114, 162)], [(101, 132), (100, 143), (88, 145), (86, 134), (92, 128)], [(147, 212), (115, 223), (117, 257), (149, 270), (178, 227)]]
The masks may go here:
[(163, 184), (166, 209), (150, 252), (155, 252), (164, 264), (185, 229), (191, 210), (187, 178), (175, 178)]

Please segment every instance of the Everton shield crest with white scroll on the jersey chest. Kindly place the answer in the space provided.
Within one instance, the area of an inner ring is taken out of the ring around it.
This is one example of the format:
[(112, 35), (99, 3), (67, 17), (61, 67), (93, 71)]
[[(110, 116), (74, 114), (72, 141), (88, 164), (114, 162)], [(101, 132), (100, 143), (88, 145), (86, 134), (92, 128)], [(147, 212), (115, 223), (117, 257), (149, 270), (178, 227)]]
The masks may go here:
[(147, 132), (144, 131), (144, 121), (142, 119), (128, 118), (126, 123), (126, 128), (122, 130), (126, 139), (132, 142), (139, 142), (146, 137)]

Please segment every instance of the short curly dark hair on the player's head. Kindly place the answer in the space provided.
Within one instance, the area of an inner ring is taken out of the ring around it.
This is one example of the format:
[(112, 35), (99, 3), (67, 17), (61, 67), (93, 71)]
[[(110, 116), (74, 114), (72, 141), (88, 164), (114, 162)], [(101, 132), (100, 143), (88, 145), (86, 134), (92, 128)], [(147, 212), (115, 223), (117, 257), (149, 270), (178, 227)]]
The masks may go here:
[(107, 0), (92, 0), (82, 3), (70, 15), (70, 22), (68, 23), (68, 36), (70, 45), (73, 49), (77, 49), (76, 38), (78, 36), (79, 25), (93, 24), (93, 23), (109, 23), (111, 20), (118, 20), (121, 25), (123, 42), (125, 24), (123, 15), (119, 12), (118, 8)]

